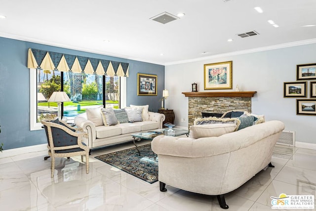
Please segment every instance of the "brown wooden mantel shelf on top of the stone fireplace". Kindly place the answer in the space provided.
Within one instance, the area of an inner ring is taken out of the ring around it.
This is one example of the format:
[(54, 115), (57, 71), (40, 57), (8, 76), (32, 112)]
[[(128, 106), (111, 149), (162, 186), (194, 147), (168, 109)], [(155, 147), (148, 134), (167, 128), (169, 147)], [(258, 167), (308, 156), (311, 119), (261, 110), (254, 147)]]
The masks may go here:
[(186, 97), (253, 97), (256, 91), (182, 92)]

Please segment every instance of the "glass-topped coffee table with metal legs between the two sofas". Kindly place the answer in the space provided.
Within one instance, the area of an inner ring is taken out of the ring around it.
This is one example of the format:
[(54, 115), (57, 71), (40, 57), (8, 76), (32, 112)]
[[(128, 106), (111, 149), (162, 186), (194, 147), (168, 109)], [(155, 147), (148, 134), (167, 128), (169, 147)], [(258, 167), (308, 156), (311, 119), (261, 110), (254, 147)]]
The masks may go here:
[(133, 143), (136, 146), (137, 152), (140, 155), (140, 151), (138, 149), (138, 146), (136, 144), (135, 141), (141, 141), (142, 139), (145, 140), (153, 140), (156, 136), (148, 136), (146, 135), (146, 133), (148, 134), (149, 132), (161, 132), (159, 135), (167, 135), (167, 136), (179, 136), (179, 135), (187, 135), (187, 137), (189, 136), (189, 130), (188, 129), (180, 129), (180, 128), (172, 128), (171, 130), (169, 128), (162, 128), (162, 129), (155, 129), (155, 130), (150, 130), (148, 132), (140, 132), (140, 133), (134, 133), (132, 134), (133, 137)]

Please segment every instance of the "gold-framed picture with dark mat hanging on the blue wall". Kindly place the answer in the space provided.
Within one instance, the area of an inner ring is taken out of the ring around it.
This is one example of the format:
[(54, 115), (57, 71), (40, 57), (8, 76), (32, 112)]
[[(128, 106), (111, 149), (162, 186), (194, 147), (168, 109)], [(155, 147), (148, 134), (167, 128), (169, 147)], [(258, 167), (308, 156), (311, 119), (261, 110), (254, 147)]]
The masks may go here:
[(157, 76), (137, 73), (137, 95), (157, 95)]

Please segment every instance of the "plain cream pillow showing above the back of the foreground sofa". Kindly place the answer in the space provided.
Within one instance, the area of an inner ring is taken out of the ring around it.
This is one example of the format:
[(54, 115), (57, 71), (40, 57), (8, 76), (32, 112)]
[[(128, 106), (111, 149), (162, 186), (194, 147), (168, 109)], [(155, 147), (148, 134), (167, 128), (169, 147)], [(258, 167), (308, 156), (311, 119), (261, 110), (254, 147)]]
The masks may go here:
[(189, 138), (203, 138), (221, 136), (223, 134), (234, 132), (237, 125), (234, 124), (211, 124), (190, 126)]

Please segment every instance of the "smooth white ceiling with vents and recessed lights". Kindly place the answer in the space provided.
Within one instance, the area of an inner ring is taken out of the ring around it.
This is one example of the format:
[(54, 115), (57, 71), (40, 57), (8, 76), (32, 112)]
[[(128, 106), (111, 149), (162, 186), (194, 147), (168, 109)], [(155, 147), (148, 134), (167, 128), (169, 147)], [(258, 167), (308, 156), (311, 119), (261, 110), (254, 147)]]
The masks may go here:
[[(186, 15), (150, 20), (162, 12)], [(1, 37), (162, 65), (316, 42), (316, 26), (302, 27), (316, 25), (316, 0), (0, 0), (0, 15)]]

